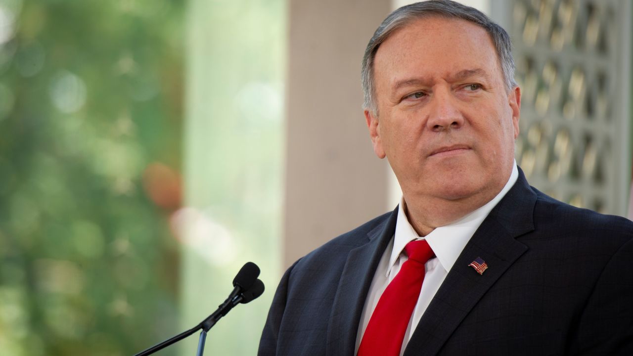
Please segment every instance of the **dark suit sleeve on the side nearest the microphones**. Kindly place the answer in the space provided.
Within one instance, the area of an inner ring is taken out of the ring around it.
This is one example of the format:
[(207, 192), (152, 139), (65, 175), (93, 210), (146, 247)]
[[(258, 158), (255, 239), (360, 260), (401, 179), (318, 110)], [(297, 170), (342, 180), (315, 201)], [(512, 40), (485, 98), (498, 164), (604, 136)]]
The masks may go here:
[(277, 340), (279, 338), (281, 321), (284, 317), (290, 275), (297, 262), (294, 262), (294, 264), (285, 271), (284, 276), (279, 282), (279, 286), (277, 286), (277, 291), (275, 291), (272, 305), (270, 305), (270, 310), (268, 310), (268, 317), (266, 318), (264, 330), (261, 333), (260, 348), (257, 353), (258, 356), (270, 356), (276, 355), (277, 353)]

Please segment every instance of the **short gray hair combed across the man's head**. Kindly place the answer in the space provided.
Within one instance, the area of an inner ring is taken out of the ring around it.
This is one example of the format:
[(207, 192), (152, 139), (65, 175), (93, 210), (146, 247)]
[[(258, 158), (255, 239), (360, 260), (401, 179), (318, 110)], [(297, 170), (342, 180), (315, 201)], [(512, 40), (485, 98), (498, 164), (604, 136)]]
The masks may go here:
[(409, 25), (415, 20), (430, 16), (466, 20), (486, 30), (492, 38), (494, 48), (499, 56), (499, 63), (501, 63), (501, 72), (503, 73), (506, 89), (510, 91), (513, 87), (517, 86), (517, 82), (515, 82), (514, 79), (515, 64), (512, 58), (512, 43), (510, 42), (510, 35), (508, 35), (506, 30), (492, 22), (488, 16), (477, 9), (451, 0), (429, 0), (423, 1), (422, 3), (406, 5), (393, 11), (380, 23), (372, 39), (369, 40), (361, 68), (363, 94), (365, 95), (365, 101), (363, 103), (364, 110), (370, 110), (374, 115), (377, 115), (378, 112), (375, 89), (373, 87), (373, 61), (380, 44), (389, 38), (394, 31)]

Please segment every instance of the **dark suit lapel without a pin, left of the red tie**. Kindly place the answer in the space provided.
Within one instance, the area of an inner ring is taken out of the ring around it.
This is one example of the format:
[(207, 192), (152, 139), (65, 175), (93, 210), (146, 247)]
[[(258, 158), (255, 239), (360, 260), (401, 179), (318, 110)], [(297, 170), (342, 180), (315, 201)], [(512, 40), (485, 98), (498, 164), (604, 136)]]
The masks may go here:
[(398, 208), (367, 234), (368, 243), (349, 251), (330, 314), (326, 355), (354, 355), (365, 299), (382, 253), (393, 237), (397, 217)]

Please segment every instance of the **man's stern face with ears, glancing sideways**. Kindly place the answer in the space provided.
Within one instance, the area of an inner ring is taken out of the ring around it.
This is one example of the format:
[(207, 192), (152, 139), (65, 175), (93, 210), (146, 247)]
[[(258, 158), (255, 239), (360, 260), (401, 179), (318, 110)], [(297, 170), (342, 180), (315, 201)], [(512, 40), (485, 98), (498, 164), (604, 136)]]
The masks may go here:
[(365, 117), (374, 151), (387, 156), (405, 198), (491, 199), (503, 188), (520, 91), (506, 89), (484, 29), (441, 17), (417, 20), (380, 45), (373, 73), (378, 116)]

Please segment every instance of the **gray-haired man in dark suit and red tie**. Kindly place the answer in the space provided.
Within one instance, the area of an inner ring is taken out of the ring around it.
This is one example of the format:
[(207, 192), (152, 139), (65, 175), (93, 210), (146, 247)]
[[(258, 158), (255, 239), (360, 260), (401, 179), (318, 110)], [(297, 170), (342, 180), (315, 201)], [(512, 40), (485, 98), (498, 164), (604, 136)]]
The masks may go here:
[(513, 75), (477, 10), (384, 20), (365, 118), (403, 199), (287, 270), (260, 355), (633, 355), (633, 223), (527, 184)]

